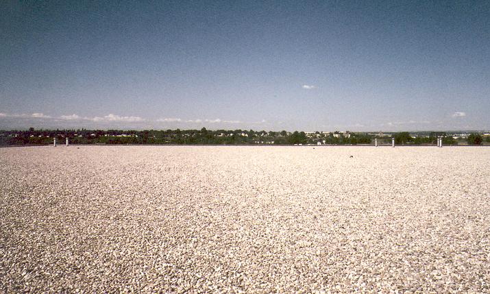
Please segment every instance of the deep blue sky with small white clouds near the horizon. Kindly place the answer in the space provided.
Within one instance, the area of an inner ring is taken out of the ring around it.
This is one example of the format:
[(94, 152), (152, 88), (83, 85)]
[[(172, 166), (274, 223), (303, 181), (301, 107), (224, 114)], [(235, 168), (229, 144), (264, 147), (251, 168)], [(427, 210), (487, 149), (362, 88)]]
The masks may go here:
[(490, 1), (0, 11), (0, 129), (490, 130)]

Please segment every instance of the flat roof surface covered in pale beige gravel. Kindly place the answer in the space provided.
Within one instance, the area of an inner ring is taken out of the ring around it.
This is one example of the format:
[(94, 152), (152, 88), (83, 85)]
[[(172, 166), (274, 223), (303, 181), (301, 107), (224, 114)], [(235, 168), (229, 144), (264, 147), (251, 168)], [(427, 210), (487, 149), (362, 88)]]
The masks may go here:
[(485, 147), (0, 149), (5, 293), (489, 293), (489, 238)]

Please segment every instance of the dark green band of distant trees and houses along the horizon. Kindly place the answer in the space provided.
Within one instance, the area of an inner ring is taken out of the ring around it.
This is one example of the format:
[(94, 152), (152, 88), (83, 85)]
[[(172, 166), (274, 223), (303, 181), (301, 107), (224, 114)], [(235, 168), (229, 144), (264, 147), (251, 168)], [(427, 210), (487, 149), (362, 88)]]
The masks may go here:
[[(60, 144), (69, 138), (71, 144), (112, 144), (112, 145), (358, 145), (391, 144), (395, 138), (397, 145), (436, 145), (437, 138), (443, 145), (457, 145), (458, 140), (445, 132), (427, 132), (411, 136), (408, 132), (397, 132), (388, 136), (354, 132), (266, 132), (254, 130), (10, 130), (0, 131), (0, 145), (48, 145), (57, 138)], [(490, 142), (490, 136), (486, 138)], [(467, 143), (481, 145), (480, 134), (470, 134)]]

